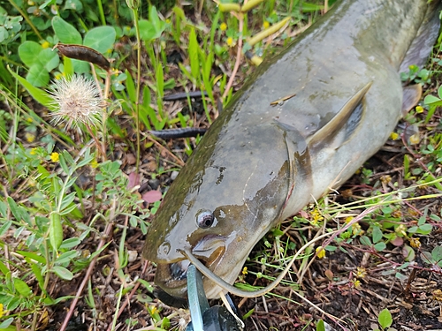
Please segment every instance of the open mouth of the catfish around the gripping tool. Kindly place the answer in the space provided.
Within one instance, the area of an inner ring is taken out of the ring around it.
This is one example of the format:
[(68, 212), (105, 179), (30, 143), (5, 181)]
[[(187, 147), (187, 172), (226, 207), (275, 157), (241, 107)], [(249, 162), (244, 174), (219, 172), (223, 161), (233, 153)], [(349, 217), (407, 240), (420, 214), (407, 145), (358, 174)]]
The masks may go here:
[[(225, 238), (220, 236), (206, 236), (192, 249), (194, 257), (211, 271), (217, 268), (224, 253)], [(189, 266), (190, 261), (184, 256), (183, 260), (156, 264), (155, 283), (161, 289), (156, 291), (156, 297), (164, 304), (171, 305), (173, 299), (176, 299), (181, 306), (182, 299), (187, 298), (187, 269)], [(210, 289), (206, 288), (206, 282), (203, 281), (203, 283), (207, 293)], [(161, 291), (164, 291), (166, 295), (161, 294)]]

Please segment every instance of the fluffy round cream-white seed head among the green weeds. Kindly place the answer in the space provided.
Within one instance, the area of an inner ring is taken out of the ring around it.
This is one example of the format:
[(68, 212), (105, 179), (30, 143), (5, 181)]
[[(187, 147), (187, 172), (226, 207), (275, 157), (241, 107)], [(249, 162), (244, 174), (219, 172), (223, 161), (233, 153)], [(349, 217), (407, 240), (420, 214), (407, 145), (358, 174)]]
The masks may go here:
[(54, 81), (52, 91), (54, 110), (52, 123), (57, 125), (66, 122), (80, 128), (81, 124), (96, 126), (103, 115), (103, 99), (100, 97), (95, 82), (80, 75), (71, 79)]

